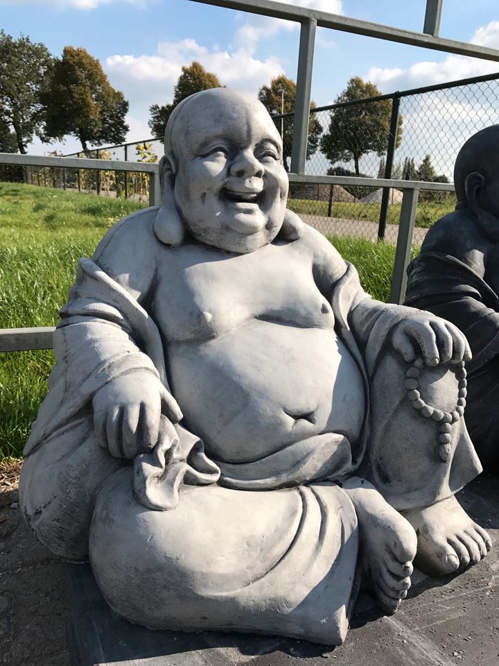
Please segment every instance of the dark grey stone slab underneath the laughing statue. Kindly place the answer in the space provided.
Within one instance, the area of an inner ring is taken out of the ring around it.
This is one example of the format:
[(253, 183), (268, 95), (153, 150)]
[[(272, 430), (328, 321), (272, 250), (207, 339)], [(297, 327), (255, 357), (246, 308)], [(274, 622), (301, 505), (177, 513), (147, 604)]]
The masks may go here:
[(116, 617), (88, 565), (68, 565), (73, 666), (498, 666), (499, 479), (460, 493), (466, 511), (496, 546), (459, 576), (415, 572), (399, 612), (383, 616), (370, 597), (356, 606), (347, 641), (330, 649), (306, 641), (234, 633), (150, 631)]

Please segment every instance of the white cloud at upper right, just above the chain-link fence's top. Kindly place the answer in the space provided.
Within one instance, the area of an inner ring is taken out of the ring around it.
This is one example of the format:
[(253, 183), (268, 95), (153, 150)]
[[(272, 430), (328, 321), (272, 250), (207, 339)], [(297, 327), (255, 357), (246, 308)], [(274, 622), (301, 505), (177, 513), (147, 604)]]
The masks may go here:
[[(470, 41), (473, 44), (499, 49), (499, 21), (493, 21), (487, 26), (478, 28)], [(385, 92), (492, 74), (498, 69), (498, 63), (492, 60), (449, 55), (439, 62), (436, 60), (415, 62), (407, 69), (371, 67), (366, 78), (380, 85)]]

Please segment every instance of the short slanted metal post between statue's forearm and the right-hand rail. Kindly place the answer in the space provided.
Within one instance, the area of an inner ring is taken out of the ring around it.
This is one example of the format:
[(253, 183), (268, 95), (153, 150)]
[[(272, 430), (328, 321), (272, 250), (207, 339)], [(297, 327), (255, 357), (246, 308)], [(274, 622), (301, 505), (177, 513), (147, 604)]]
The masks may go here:
[(405, 269), (408, 267), (410, 259), (418, 194), (419, 189), (413, 188), (403, 190), (401, 216), (399, 220), (399, 235), (397, 237), (394, 273), (392, 278), (392, 293), (390, 293), (389, 298), (390, 303), (401, 304), (405, 298), (405, 286), (407, 284), (407, 274), (405, 273)]

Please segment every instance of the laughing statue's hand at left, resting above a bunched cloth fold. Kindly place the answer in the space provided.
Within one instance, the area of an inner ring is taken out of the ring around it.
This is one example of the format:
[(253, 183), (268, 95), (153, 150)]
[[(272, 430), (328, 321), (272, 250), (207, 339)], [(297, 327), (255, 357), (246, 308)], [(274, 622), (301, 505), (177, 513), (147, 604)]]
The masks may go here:
[(97, 441), (115, 458), (134, 459), (150, 451), (161, 413), (172, 423), (182, 419), (175, 398), (146, 370), (112, 379), (94, 395), (92, 407)]

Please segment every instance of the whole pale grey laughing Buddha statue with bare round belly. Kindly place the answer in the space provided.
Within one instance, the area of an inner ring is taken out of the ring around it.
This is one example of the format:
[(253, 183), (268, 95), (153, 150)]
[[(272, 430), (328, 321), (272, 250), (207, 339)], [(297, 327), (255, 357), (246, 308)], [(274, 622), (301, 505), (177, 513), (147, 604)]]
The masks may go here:
[(259, 102), (189, 97), (165, 153), (161, 207), (106, 234), (61, 310), (24, 515), (132, 622), (339, 644), (362, 581), (392, 613), (416, 551), (446, 574), (491, 547), (454, 497), (481, 470), (469, 348), (371, 300), (286, 210)]

